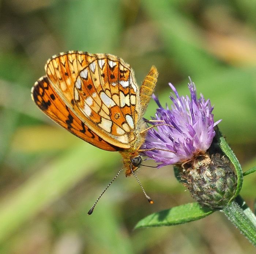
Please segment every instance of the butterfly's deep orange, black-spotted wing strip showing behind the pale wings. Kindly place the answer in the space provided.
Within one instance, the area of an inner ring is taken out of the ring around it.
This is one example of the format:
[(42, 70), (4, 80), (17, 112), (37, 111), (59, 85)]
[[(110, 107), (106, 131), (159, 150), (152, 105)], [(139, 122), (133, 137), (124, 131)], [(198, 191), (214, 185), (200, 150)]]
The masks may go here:
[(31, 90), (31, 96), (35, 104), (48, 117), (60, 126), (75, 134), (80, 139), (87, 141), (95, 147), (107, 151), (118, 151), (118, 147), (107, 143), (90, 128), (88, 128), (54, 91), (47, 76), (41, 77)]

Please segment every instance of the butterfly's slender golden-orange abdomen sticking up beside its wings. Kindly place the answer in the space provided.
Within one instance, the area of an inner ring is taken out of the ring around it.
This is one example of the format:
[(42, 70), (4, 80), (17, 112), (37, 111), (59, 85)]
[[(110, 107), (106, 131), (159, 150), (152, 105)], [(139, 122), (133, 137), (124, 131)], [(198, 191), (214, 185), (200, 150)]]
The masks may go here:
[(140, 106), (142, 115), (144, 115), (144, 112), (147, 109), (147, 105), (154, 92), (155, 85), (157, 83), (157, 77), (157, 68), (155, 68), (155, 66), (152, 66), (148, 75), (145, 77), (142, 86), (140, 87)]

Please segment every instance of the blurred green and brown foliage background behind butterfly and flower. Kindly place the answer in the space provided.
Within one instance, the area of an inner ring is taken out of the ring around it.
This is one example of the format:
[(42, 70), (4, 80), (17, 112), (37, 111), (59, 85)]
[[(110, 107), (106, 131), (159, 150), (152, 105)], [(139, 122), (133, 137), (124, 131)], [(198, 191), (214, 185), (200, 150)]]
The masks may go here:
[[(118, 153), (95, 148), (54, 124), (30, 98), (53, 54), (111, 53), (141, 84), (151, 65), (156, 94), (168, 82), (188, 94), (188, 76), (215, 105), (215, 121), (244, 170), (256, 164), (256, 1), (0, 1), (0, 253), (253, 253), (222, 214), (174, 227), (133, 231), (146, 215), (186, 202), (172, 167), (122, 174)], [(150, 103), (146, 117), (156, 105)], [(147, 162), (150, 164), (151, 162)], [(153, 163), (151, 163), (153, 165)], [(242, 196), (256, 197), (256, 174)]]

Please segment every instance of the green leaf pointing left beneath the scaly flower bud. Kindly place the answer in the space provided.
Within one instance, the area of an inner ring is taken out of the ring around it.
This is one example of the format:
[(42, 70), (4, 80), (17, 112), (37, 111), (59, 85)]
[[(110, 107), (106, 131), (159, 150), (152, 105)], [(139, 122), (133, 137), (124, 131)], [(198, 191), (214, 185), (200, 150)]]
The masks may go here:
[(189, 221), (202, 219), (215, 211), (216, 210), (211, 208), (202, 207), (198, 203), (188, 203), (157, 213), (152, 213), (140, 220), (135, 228), (183, 224)]

